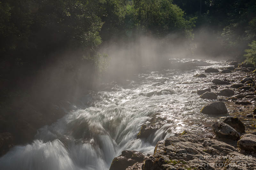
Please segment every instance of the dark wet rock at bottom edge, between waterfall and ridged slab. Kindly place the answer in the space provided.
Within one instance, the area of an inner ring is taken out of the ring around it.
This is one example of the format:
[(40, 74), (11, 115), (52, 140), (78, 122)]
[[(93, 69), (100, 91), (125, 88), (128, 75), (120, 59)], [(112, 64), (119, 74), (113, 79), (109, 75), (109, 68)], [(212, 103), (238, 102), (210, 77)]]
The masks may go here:
[(123, 151), (121, 155), (114, 158), (109, 170), (125, 170), (136, 162), (143, 162), (144, 156), (137, 151)]

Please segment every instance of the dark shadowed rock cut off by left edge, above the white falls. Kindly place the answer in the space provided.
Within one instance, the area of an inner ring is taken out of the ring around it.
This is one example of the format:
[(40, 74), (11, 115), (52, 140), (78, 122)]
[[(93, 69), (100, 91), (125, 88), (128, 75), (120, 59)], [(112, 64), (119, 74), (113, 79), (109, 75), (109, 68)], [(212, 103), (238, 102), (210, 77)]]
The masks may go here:
[(4, 155), (13, 146), (13, 136), (9, 132), (0, 133), (0, 156)]

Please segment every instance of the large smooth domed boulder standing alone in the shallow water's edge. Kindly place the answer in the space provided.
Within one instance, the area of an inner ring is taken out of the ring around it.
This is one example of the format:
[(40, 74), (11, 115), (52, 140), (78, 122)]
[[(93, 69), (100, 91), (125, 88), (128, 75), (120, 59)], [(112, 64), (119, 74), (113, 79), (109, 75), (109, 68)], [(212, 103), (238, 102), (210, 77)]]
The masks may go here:
[(200, 113), (207, 115), (224, 115), (228, 113), (225, 103), (218, 101), (204, 106)]

